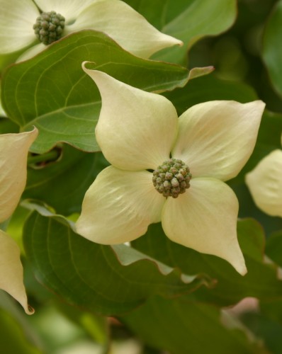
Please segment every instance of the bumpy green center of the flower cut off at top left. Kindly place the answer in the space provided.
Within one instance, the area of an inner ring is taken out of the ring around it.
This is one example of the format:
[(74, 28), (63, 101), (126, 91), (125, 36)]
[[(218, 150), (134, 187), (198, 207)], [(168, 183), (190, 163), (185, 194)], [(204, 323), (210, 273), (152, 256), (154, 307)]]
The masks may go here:
[(43, 12), (33, 25), (36, 37), (45, 45), (49, 45), (62, 37), (64, 16), (55, 11)]

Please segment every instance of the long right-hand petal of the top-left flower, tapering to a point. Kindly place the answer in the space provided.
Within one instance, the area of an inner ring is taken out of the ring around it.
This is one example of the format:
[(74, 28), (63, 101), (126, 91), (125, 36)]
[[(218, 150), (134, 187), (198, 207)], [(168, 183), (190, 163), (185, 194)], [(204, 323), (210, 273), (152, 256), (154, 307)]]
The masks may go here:
[(120, 0), (96, 0), (81, 11), (77, 20), (65, 28), (65, 33), (77, 30), (99, 30), (137, 57), (148, 58), (171, 45), (183, 45), (181, 40), (165, 35), (128, 4)]

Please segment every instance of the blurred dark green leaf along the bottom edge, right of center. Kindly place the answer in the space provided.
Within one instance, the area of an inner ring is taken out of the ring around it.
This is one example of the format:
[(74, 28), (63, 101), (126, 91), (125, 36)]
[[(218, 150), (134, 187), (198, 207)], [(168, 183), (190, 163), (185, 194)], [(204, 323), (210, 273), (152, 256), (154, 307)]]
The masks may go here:
[(151, 298), (121, 321), (145, 343), (171, 354), (265, 353), (256, 343), (250, 343), (243, 331), (227, 329), (219, 309), (189, 297)]

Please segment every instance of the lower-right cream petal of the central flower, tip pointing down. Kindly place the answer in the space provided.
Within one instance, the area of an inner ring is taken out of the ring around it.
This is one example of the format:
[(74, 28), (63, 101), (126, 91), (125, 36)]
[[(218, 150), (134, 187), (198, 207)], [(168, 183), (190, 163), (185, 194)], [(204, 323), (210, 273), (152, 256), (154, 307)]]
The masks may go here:
[(238, 273), (247, 269), (237, 241), (238, 200), (215, 178), (192, 178), (178, 198), (168, 198), (162, 212), (165, 234), (177, 244), (225, 259)]

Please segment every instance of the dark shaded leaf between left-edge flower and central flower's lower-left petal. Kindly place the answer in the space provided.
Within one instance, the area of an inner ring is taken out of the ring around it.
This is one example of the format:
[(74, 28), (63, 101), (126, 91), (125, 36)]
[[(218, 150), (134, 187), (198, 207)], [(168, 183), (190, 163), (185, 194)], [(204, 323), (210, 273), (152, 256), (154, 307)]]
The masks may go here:
[(23, 198), (43, 201), (58, 214), (80, 212), (86, 190), (106, 166), (101, 153), (84, 154), (64, 144), (59, 160), (41, 168), (28, 168)]

